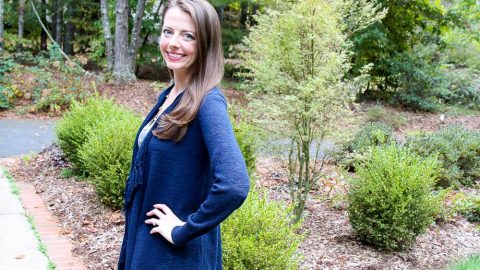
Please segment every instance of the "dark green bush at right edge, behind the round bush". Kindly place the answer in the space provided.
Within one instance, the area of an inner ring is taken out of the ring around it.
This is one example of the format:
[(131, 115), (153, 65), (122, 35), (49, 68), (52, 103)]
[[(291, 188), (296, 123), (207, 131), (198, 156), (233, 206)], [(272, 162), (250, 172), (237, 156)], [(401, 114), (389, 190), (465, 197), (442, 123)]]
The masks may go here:
[(436, 155), (442, 172), (438, 185), (472, 185), (480, 177), (480, 132), (451, 125), (434, 133), (407, 137), (406, 147), (422, 157)]

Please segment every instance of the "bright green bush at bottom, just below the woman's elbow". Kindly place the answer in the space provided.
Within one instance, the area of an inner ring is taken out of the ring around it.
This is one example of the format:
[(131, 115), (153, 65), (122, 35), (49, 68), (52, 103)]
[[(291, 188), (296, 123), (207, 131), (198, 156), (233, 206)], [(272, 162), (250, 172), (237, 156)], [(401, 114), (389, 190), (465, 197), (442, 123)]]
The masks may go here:
[(303, 236), (291, 224), (292, 209), (269, 202), (252, 188), (240, 209), (222, 223), (225, 270), (299, 269)]

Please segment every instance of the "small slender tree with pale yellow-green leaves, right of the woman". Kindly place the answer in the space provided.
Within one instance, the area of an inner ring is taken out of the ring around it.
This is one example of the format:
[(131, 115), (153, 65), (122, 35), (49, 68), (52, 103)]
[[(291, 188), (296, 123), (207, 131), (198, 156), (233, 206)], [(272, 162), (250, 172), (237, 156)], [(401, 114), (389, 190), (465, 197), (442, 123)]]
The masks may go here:
[(297, 219), (325, 160), (318, 151), (311, 155), (311, 146), (348, 113), (360, 88), (361, 77), (344, 79), (350, 69), (347, 33), (355, 31), (347, 26), (363, 28), (384, 14), (366, 0), (355, 1), (370, 8), (359, 9), (365, 14), (352, 22), (344, 13), (351, 10), (347, 3), (352, 1), (298, 1), (258, 16), (246, 39), (244, 75), (251, 78), (252, 104), (291, 141), (288, 178)]

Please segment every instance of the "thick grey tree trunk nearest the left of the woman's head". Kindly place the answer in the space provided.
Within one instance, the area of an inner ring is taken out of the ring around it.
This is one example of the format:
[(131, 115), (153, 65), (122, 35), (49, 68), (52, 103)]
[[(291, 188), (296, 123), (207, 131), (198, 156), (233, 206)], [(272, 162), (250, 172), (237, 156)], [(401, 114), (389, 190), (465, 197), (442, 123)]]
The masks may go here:
[(128, 55), (128, 0), (117, 0), (115, 6), (115, 61), (113, 77), (117, 83), (135, 80)]

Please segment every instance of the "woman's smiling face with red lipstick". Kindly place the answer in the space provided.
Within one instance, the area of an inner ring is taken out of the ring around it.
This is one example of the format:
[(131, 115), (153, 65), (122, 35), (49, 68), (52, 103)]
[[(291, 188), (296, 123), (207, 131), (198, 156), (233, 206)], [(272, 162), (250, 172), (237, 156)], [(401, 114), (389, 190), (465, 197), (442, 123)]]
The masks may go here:
[(160, 36), (160, 51), (174, 73), (189, 74), (197, 58), (197, 33), (190, 14), (173, 7), (167, 10)]

